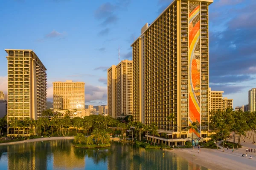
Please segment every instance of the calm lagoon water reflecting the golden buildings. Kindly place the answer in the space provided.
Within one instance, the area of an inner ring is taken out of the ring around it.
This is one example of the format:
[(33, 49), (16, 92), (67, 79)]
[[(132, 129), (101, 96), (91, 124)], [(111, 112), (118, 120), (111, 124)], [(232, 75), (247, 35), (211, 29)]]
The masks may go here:
[(72, 146), (72, 140), (0, 146), (0, 170), (7, 169), (207, 170), (162, 150), (145, 150), (117, 142), (108, 149), (79, 149)]

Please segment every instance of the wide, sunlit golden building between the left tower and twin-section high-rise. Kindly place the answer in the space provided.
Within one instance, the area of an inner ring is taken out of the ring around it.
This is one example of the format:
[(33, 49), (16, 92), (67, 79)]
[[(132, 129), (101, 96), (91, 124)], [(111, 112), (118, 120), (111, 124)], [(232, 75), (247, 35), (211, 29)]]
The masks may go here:
[(84, 82), (53, 82), (53, 109), (84, 109)]

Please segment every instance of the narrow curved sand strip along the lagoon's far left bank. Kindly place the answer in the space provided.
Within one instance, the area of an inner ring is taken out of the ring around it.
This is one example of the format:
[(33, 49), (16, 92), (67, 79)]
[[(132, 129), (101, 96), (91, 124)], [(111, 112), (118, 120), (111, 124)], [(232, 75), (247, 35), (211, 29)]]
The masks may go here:
[(47, 138), (35, 138), (35, 139), (27, 139), (24, 141), (14, 141), (14, 142), (6, 142), (1, 143), (0, 146), (3, 145), (9, 145), (9, 144), (22, 144), (22, 143), (29, 143), (29, 142), (35, 142), (35, 141), (52, 141), (52, 140), (63, 140), (63, 139), (74, 139), (74, 136), (56, 136), (56, 137), (47, 137)]

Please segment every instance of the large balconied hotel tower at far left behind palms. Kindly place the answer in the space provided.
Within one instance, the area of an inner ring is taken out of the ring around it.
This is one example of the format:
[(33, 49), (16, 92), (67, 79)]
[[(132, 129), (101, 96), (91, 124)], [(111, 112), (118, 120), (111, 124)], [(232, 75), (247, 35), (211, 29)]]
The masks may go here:
[[(5, 51), (8, 60), (8, 121), (26, 117), (37, 120), (47, 109), (47, 69), (33, 50)], [(13, 133), (13, 128), (9, 127), (8, 133)]]

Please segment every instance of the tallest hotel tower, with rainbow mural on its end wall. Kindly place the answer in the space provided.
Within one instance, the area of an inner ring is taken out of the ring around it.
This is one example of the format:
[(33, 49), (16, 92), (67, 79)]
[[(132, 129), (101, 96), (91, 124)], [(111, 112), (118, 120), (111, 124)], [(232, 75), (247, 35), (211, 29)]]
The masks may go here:
[(187, 138), (208, 135), (208, 6), (213, 0), (174, 0), (151, 25), (146, 24), (133, 47), (134, 121), (156, 123)]

